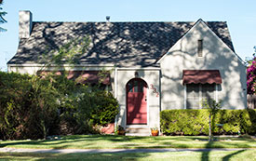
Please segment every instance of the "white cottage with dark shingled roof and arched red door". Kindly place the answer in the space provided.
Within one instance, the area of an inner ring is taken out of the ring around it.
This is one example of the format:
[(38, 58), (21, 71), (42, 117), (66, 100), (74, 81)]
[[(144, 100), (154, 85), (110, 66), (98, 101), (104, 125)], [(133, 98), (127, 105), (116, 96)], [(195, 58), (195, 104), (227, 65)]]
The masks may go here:
[(36, 74), (48, 48), (87, 35), (88, 52), (62, 68), (91, 81), (110, 71), (103, 84), (120, 104), (115, 123), (130, 132), (148, 133), (159, 127), (160, 111), (202, 108), (206, 97), (222, 100), (223, 109), (247, 108), (246, 66), (223, 21), (36, 22), (20, 11), (20, 45), (8, 71)]

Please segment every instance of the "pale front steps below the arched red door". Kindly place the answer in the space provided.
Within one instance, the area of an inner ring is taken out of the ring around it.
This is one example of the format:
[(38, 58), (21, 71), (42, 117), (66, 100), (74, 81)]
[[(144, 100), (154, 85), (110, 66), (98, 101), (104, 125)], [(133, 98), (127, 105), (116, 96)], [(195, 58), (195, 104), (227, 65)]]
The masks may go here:
[(151, 131), (149, 127), (127, 127), (126, 136), (150, 136)]

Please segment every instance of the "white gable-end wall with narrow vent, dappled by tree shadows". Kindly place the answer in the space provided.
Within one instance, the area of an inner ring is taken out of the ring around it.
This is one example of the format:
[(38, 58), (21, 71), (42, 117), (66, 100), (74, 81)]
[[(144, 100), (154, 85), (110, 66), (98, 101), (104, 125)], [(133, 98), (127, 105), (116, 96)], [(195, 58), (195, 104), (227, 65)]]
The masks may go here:
[[(197, 40), (203, 40), (203, 57), (197, 56)], [(245, 109), (247, 106), (246, 66), (236, 54), (202, 21), (171, 47), (159, 60), (162, 72), (161, 107), (184, 109), (182, 70), (220, 70), (222, 85), (218, 100), (223, 109)]]

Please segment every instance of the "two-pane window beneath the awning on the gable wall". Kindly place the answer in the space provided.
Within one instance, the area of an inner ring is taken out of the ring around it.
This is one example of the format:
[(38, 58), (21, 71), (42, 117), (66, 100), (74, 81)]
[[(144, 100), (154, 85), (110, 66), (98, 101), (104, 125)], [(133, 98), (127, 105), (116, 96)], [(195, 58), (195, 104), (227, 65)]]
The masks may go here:
[(186, 108), (201, 109), (203, 99), (216, 100), (216, 84), (186, 84)]

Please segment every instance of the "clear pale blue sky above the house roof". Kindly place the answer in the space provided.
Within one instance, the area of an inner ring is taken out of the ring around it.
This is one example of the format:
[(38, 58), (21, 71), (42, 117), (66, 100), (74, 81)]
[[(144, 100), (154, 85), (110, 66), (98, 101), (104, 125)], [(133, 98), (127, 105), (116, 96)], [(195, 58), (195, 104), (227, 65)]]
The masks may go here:
[(256, 46), (256, 0), (4, 0), (7, 32), (0, 33), (0, 70), (19, 45), (19, 11), (34, 21), (227, 21), (236, 54), (252, 57)]

